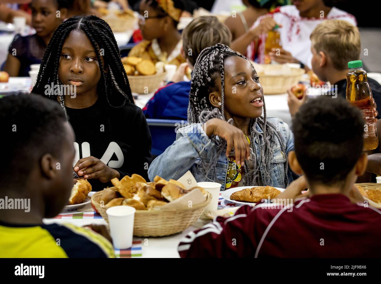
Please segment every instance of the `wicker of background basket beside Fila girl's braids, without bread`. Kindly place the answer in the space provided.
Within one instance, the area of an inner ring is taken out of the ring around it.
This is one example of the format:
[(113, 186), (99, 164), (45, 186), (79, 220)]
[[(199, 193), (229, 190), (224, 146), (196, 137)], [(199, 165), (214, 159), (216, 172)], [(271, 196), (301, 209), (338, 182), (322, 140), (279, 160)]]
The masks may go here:
[(128, 75), (127, 77), (130, 82), (131, 91), (138, 94), (144, 94), (155, 92), (164, 81), (165, 75), (166, 72), (147, 76)]

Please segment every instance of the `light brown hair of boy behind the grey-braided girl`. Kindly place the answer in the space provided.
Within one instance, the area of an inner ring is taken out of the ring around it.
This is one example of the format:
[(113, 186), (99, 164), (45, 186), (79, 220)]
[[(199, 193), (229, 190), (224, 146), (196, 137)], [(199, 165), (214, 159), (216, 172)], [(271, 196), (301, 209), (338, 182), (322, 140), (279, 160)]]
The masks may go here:
[(203, 49), (222, 43), (230, 46), (232, 34), (229, 28), (215, 16), (202, 16), (194, 19), (182, 31), (182, 48), (185, 57), (193, 66)]

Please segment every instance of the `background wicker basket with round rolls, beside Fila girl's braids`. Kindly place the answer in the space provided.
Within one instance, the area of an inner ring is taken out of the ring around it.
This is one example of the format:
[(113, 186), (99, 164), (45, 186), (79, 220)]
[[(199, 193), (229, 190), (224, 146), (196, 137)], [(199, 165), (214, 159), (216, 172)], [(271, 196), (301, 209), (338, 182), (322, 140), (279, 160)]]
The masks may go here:
[(165, 63), (162, 61), (156, 64), (149, 59), (140, 57), (123, 57), (124, 69), (126, 70), (131, 91), (139, 94), (154, 92), (164, 81)]

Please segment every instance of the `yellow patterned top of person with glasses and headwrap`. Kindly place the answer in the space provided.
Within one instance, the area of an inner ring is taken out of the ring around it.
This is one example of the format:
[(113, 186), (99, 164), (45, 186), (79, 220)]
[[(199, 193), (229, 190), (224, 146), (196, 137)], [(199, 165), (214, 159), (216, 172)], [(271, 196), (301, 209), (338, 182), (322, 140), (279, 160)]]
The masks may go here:
[(174, 64), (179, 66), (181, 63), (185, 62), (185, 59), (182, 57), (180, 52), (181, 46), (182, 41), (180, 40), (171, 54), (167, 56), (166, 52), (161, 51), (160, 46), (157, 43), (157, 39), (153, 39), (152, 41), (143, 40), (131, 49), (128, 56), (150, 59), (154, 63), (163, 61), (166, 64)]

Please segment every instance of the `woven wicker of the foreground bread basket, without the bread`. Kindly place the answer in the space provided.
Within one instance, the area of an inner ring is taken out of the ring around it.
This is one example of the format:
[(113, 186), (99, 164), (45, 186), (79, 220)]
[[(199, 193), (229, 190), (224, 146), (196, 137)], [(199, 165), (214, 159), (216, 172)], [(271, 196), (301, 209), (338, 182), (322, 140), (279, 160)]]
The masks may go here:
[[(112, 187), (111, 189), (114, 189)], [(101, 207), (102, 191), (96, 192), (91, 197), (93, 208), (108, 221), (107, 206)], [(207, 200), (191, 208), (176, 210), (136, 210), (134, 219), (134, 236), (137, 237), (162, 237), (182, 232), (192, 226), (200, 218), (205, 207), (211, 201), (208, 193)]]

